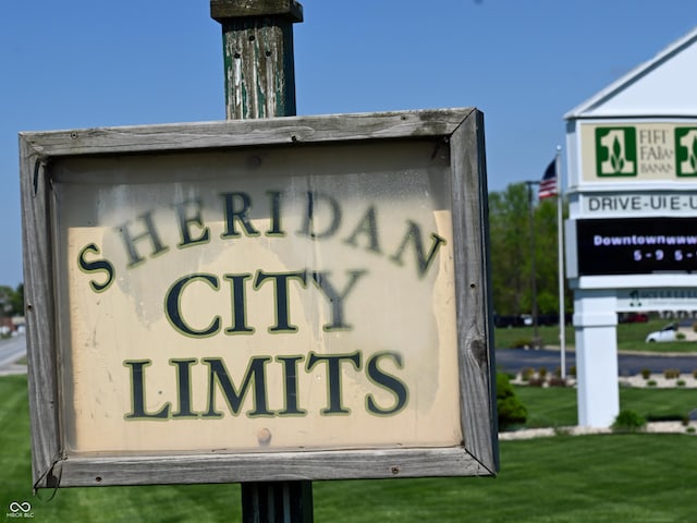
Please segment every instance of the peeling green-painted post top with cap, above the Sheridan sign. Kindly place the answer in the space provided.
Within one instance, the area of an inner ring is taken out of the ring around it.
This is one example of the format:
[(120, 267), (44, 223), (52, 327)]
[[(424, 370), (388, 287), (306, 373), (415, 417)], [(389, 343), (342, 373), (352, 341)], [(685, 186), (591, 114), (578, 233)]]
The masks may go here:
[(228, 120), (295, 114), (294, 0), (211, 0), (222, 25)]

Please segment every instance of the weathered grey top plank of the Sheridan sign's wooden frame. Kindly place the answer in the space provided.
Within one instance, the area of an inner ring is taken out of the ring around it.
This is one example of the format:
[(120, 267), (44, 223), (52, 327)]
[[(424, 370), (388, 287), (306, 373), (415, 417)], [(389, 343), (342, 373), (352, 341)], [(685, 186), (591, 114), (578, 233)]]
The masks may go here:
[(449, 136), (473, 109), (404, 111), (264, 120), (94, 127), (22, 133), (42, 156)]

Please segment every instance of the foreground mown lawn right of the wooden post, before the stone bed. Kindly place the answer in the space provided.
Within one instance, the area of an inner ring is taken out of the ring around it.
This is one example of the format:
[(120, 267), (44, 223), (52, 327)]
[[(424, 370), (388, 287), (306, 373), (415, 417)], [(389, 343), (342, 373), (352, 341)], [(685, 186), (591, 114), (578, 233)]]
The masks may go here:
[(697, 437), (504, 441), (497, 478), (315, 484), (317, 521), (692, 522)]

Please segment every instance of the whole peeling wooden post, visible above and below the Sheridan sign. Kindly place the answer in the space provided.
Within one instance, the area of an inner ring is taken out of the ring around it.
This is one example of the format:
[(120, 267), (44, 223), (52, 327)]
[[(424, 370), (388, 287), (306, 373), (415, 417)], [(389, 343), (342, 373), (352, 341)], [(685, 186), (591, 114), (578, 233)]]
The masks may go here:
[[(293, 24), (303, 21), (294, 0), (210, 0), (222, 26), (225, 118), (295, 115)], [(313, 522), (309, 481), (242, 484), (242, 521)]]

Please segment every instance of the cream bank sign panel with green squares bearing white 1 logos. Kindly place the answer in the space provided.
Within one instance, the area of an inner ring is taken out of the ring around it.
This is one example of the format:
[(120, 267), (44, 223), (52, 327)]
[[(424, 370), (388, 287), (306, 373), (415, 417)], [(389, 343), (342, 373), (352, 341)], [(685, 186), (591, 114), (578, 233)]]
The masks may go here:
[(580, 125), (582, 182), (697, 180), (697, 123)]

